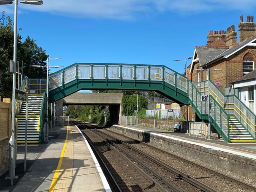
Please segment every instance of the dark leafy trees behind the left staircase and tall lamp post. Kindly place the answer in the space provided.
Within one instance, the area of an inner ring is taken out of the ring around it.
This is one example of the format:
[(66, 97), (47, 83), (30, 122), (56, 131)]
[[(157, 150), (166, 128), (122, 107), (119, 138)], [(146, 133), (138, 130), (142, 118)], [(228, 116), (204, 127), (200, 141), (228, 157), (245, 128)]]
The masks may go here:
[[(17, 33), (22, 30), (17, 30)], [(13, 60), (13, 44), (14, 44), (14, 23), (9, 16), (2, 12), (0, 18), (0, 96), (3, 98), (12, 98), (12, 73), (9, 72), (10, 60)], [(19, 72), (29, 78), (46, 78), (46, 69), (35, 69), (31, 65), (45, 65), (46, 53), (35, 43), (34, 39), (27, 37), (22, 43), (22, 36), (17, 34), (17, 64), (19, 62)], [(18, 66), (17, 66), (18, 68)], [(18, 82), (17, 82), (18, 84)], [(18, 86), (17, 86), (18, 87)]]

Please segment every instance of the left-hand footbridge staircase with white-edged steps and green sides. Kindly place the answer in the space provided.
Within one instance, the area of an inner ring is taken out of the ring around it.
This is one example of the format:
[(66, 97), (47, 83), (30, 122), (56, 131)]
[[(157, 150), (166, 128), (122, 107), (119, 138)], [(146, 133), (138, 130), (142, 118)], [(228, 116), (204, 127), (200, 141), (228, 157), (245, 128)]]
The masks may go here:
[[(41, 143), (46, 128), (46, 80), (24, 77), (20, 90), (28, 92), (27, 142)], [(17, 143), (25, 142), (26, 102), (16, 102), (16, 118), (18, 119)]]

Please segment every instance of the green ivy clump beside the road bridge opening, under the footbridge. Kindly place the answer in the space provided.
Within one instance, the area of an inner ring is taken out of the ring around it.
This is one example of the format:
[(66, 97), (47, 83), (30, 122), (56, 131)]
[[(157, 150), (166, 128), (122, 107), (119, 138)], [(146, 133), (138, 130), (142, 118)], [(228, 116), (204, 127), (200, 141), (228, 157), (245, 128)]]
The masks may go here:
[[(134, 115), (134, 110), (137, 110), (137, 96), (124, 95), (122, 98), (122, 106), (124, 115)], [(141, 95), (138, 96), (138, 114), (140, 110), (146, 109), (148, 106), (148, 101)]]

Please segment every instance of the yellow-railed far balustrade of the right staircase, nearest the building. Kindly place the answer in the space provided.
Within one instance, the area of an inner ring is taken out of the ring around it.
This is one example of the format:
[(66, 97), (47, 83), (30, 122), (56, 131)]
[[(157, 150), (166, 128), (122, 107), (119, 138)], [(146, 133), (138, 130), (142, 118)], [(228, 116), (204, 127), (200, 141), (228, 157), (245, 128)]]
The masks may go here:
[[(213, 89), (217, 90), (218, 94), (216, 94), (216, 92)], [(216, 99), (216, 101), (218, 100), (218, 103), (222, 103), (220, 105), (223, 105), (222, 107), (225, 110), (234, 110), (234, 116), (240, 119), (242, 125), (244, 125), (244, 127), (255, 137), (256, 115), (254, 114), (254, 112), (252, 112), (252, 110), (250, 110), (250, 108), (248, 108), (248, 106), (246, 106), (244, 102), (242, 102), (236, 95), (225, 96), (212, 81), (210, 81), (210, 90), (213, 93), (210, 94)], [(236, 100), (238, 102), (238, 105), (235, 102), (230, 102), (230, 100)], [(226, 106), (228, 105), (233, 105), (234, 108), (226, 108)], [(240, 108), (245, 109), (246, 114)], [(250, 114), (251, 118), (254, 119), (254, 122), (252, 122), (252, 120), (248, 118), (248, 114)]]

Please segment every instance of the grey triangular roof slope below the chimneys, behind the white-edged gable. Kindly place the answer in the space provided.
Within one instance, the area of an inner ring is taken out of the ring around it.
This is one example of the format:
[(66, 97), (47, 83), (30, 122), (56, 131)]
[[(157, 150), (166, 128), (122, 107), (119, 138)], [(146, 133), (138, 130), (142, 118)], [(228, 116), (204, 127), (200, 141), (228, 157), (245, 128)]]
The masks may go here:
[(227, 50), (227, 48), (196, 47), (196, 53), (198, 55), (198, 59), (201, 66), (206, 64), (208, 61), (212, 60), (216, 56), (220, 55), (225, 50)]

